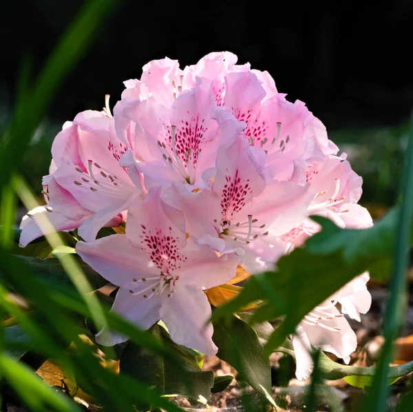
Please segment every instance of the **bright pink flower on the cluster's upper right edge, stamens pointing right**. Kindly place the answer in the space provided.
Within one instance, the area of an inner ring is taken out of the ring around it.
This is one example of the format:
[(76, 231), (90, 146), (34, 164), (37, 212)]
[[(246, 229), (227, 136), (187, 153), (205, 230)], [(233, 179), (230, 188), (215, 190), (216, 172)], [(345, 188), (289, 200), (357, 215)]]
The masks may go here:
[(290, 103), (284, 94), (268, 91), (253, 72), (230, 73), (225, 77), (224, 106), (246, 122), (245, 137), (266, 153), (265, 164), (277, 180), (288, 180), (294, 162), (312, 156), (336, 154), (326, 127), (301, 101)]

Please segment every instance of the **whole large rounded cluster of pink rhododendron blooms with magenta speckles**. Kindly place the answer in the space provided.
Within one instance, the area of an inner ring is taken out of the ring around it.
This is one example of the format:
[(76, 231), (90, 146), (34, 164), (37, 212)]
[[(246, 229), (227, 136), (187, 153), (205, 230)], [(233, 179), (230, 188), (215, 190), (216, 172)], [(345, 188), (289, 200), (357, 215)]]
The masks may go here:
[[(44, 176), (45, 207), (21, 223), (21, 246), (41, 236), (34, 219), (78, 229), (76, 252), (119, 287), (112, 307), (143, 329), (158, 320), (178, 344), (217, 352), (207, 289), (243, 267), (257, 274), (315, 234), (311, 215), (340, 227), (372, 225), (357, 202), (361, 178), (301, 101), (268, 72), (211, 53), (184, 69), (161, 59), (125, 82), (114, 105), (63, 125)], [(125, 226), (97, 238), (104, 227)], [(334, 274), (331, 274), (334, 276)], [(297, 327), (297, 378), (320, 347), (345, 362), (356, 337), (344, 313), (370, 307), (368, 274), (354, 279)], [(340, 304), (341, 311), (337, 309)], [(127, 340), (110, 330), (98, 342)]]

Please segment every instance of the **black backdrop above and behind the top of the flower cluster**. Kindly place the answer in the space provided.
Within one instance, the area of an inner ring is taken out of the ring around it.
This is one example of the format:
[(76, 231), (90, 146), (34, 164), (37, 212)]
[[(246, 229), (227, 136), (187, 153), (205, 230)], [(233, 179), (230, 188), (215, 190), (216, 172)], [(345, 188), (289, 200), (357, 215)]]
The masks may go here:
[[(22, 56), (30, 55), (34, 71), (39, 70), (82, 3), (2, 3), (3, 105), (12, 107)], [(240, 63), (249, 61), (253, 68), (268, 70), (279, 92), (288, 93), (290, 100), (305, 101), (329, 131), (348, 131), (344, 142), (368, 143), (375, 154), (388, 150), (386, 139), (399, 142), (401, 134), (391, 132), (377, 141), (377, 137), (369, 140), (368, 132), (354, 130), (397, 127), (410, 116), (412, 23), (411, 0), (124, 1), (100, 28), (49, 116), (61, 125), (82, 110), (100, 110), (107, 93), (113, 105), (120, 98), (122, 82), (139, 78), (142, 65), (152, 59), (169, 56), (184, 67), (209, 52), (229, 50)], [(400, 158), (391, 161), (399, 163)], [(392, 177), (390, 170), (385, 184)], [(393, 198), (394, 190), (384, 198)]]

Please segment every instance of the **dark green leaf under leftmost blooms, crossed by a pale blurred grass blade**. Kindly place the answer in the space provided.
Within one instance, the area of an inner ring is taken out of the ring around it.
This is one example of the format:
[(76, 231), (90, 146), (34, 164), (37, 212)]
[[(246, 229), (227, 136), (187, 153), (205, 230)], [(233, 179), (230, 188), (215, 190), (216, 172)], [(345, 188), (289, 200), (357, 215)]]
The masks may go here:
[[(25, 265), (28, 265), (32, 274), (36, 274), (37, 276), (47, 280), (59, 282), (59, 284), (72, 286), (72, 281), (69, 276), (67, 276), (59, 259), (39, 259), (32, 258), (30, 256), (15, 256), (15, 258), (23, 262)], [(100, 287), (107, 285), (107, 280), (94, 271), (92, 267), (83, 262), (79, 256), (74, 256), (74, 259), (78, 262), (78, 265), (81, 266), (87, 280), (89, 280), (94, 289), (99, 289)]]

